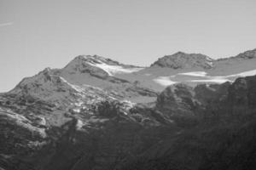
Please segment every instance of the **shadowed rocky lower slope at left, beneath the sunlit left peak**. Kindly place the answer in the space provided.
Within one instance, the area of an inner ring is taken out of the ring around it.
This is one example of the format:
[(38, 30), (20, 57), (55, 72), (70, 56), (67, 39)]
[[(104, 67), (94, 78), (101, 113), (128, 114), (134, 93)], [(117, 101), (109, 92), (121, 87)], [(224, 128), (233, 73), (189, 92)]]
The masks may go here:
[(1, 100), (0, 167), (8, 170), (112, 169), (166, 132), (160, 126), (165, 117), (117, 100), (64, 113), (32, 96), (5, 94)]

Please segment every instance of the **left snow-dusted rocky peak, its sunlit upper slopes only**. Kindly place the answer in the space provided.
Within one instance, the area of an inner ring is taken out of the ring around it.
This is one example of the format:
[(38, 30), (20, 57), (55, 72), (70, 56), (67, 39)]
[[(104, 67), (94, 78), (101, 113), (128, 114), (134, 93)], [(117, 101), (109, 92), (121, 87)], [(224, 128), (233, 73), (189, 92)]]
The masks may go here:
[(97, 55), (80, 55), (63, 69), (47, 68), (34, 77), (23, 79), (11, 93), (30, 94), (59, 105), (74, 105), (81, 101), (90, 103), (108, 98), (154, 100), (154, 90), (115, 77), (142, 69)]

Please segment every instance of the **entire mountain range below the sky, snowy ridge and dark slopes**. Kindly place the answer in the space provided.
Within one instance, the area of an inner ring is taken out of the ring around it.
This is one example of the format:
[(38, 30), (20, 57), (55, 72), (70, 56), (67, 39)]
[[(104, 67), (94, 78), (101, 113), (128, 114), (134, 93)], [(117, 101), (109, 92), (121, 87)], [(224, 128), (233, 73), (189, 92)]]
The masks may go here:
[(254, 170), (256, 49), (80, 55), (0, 94), (0, 170)]

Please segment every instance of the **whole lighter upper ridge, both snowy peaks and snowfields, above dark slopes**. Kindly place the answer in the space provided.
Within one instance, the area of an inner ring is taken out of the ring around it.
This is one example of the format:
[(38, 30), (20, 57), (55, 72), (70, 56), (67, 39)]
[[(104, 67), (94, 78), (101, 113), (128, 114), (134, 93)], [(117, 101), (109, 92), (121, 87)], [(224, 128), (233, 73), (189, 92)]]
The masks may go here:
[(120, 99), (154, 98), (154, 92), (178, 82), (195, 86), (251, 76), (255, 74), (255, 54), (256, 50), (250, 50), (236, 57), (214, 60), (203, 54), (177, 52), (147, 68), (124, 65), (98, 55), (79, 55), (62, 69), (46, 68), (34, 77), (23, 79), (12, 92), (34, 92), (52, 99), (52, 93), (63, 92), (61, 95), (67, 97), (69, 92), (85, 93), (88, 88), (84, 87), (90, 86)]

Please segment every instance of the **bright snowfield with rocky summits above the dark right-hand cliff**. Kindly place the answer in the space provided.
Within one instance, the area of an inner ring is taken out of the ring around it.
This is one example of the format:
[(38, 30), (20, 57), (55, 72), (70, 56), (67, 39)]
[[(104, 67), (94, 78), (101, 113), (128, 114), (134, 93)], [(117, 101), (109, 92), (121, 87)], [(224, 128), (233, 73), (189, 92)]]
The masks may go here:
[(232, 82), (237, 77), (256, 74), (256, 49), (225, 59), (211, 59), (203, 54), (178, 52), (158, 59), (150, 67), (126, 75), (117, 75), (129, 81), (138, 81), (156, 91), (177, 82), (195, 86), (198, 83)]

